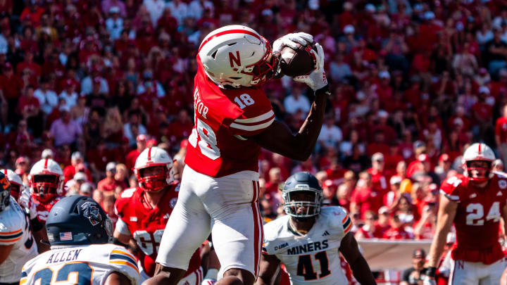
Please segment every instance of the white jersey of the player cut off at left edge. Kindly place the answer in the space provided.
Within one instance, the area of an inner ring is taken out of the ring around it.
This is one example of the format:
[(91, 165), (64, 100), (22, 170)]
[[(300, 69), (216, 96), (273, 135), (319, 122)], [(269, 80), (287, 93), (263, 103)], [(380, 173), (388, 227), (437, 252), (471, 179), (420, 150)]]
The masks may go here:
[(12, 197), (11, 204), (0, 212), (0, 246), (11, 244), (11, 253), (0, 264), (0, 284), (19, 282), (21, 267), (37, 255), (28, 217)]

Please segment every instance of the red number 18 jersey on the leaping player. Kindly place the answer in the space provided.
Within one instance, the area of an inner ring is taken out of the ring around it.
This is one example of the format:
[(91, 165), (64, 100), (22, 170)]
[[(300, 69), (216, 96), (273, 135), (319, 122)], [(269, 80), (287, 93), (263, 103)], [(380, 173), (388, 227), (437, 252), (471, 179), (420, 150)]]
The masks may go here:
[(247, 137), (273, 123), (271, 102), (259, 88), (221, 89), (208, 78), (199, 56), (197, 64), (194, 128), (185, 163), (211, 177), (258, 171), (261, 146)]

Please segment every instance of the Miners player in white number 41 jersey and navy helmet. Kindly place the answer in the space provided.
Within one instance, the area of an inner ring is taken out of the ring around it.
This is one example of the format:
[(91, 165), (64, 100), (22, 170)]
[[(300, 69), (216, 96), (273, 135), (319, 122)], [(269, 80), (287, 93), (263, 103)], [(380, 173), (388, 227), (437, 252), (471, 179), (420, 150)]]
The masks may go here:
[(285, 182), (282, 196), (287, 215), (264, 226), (261, 270), (256, 285), (272, 284), (282, 262), (292, 285), (349, 284), (339, 253), (361, 284), (376, 284), (351, 234), (352, 222), (339, 206), (323, 207), (323, 189), (309, 172)]

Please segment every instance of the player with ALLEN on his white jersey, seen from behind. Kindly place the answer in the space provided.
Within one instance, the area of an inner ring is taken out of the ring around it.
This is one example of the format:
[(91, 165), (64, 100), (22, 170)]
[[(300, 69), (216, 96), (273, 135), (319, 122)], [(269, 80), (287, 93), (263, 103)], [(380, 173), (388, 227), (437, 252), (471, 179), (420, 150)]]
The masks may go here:
[(54, 204), (46, 220), (51, 251), (26, 262), (20, 285), (137, 285), (132, 254), (112, 240), (113, 225), (99, 203), (68, 196)]

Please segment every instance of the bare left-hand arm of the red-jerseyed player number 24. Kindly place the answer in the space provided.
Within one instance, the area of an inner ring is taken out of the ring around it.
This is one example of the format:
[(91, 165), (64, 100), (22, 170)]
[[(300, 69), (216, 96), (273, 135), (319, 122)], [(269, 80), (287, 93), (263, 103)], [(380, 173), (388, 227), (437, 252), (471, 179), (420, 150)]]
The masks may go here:
[[(427, 261), (427, 277), (434, 279), (435, 271), (437, 270), (438, 262), (444, 250), (446, 237), (453, 224), (454, 217), (456, 216), (456, 209), (458, 202), (451, 201), (445, 194), (440, 195), (440, 206), (437, 217), (437, 231), (434, 234), (433, 241), (430, 247), (430, 257)], [(427, 284), (427, 283), (425, 283)], [(431, 284), (431, 283), (429, 283)]]

